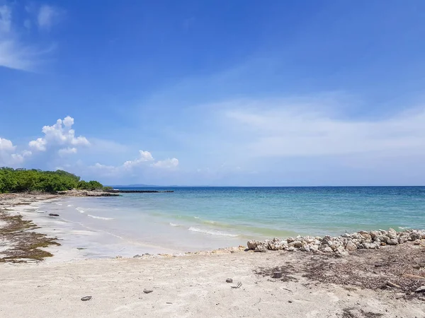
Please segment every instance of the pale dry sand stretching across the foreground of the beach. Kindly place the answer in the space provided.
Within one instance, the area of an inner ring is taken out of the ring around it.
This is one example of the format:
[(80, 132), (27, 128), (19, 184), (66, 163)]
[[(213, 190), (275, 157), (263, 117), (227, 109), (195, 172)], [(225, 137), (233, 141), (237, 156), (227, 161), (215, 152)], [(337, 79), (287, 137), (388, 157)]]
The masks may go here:
[[(182, 257), (0, 264), (0, 317), (425, 317), (421, 296), (362, 287), (368, 278), (379, 282), (382, 273), (402, 274), (392, 271), (396, 263), (373, 267), (387, 254), (387, 259), (399, 254), (392, 248), (343, 259), (227, 249)], [(416, 258), (425, 255), (422, 246), (397, 248), (412, 249)], [(390, 249), (395, 252), (385, 252)], [(283, 279), (271, 278), (275, 267)], [(238, 282), (242, 286), (232, 288)], [(87, 295), (91, 300), (81, 301)]]

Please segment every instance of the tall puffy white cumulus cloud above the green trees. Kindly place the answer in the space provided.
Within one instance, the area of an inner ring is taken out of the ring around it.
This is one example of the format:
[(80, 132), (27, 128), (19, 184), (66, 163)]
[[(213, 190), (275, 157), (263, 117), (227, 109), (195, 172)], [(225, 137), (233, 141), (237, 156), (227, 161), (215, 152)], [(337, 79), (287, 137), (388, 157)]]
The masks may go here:
[[(89, 146), (90, 143), (86, 137), (75, 136), (75, 131), (72, 129), (73, 124), (74, 118), (69, 116), (65, 117), (63, 120), (57, 119), (56, 124), (42, 127), (42, 132), (45, 134), (44, 138), (30, 141), (28, 145), (35, 151), (46, 151), (50, 146)], [(75, 147), (64, 149), (61, 149), (62, 154), (77, 152), (77, 148)]]

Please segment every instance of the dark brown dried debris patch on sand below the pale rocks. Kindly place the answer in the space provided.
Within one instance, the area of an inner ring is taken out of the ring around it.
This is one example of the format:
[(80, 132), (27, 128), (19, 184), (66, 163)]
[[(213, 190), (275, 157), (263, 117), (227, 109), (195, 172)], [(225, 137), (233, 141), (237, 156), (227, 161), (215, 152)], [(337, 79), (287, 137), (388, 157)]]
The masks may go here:
[[(283, 252), (283, 257), (287, 253)], [(299, 253), (296, 263), (287, 261), (283, 266), (259, 268), (254, 273), (272, 277), (275, 271), (282, 271), (286, 279), (283, 281), (290, 280), (291, 274), (298, 274), (320, 283), (404, 293), (405, 299), (425, 296), (414, 293), (425, 285), (425, 247), (411, 242), (381, 249), (359, 249), (347, 257)]]

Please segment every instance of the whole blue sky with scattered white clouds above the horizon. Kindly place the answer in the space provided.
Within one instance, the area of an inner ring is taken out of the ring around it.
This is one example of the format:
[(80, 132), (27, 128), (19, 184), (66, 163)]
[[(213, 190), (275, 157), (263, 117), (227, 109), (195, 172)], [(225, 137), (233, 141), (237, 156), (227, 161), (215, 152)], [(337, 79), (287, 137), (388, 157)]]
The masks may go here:
[(424, 184), (424, 12), (0, 0), (0, 165), (104, 184)]

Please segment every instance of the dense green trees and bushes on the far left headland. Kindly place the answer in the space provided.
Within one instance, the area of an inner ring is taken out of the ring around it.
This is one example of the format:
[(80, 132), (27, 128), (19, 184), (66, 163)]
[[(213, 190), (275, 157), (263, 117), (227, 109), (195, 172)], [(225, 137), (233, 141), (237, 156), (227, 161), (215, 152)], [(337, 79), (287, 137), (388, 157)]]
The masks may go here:
[(103, 187), (100, 182), (94, 180), (86, 182), (77, 175), (63, 170), (42, 171), (0, 167), (0, 193), (30, 191), (55, 193), (72, 189), (110, 188)]

